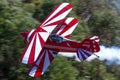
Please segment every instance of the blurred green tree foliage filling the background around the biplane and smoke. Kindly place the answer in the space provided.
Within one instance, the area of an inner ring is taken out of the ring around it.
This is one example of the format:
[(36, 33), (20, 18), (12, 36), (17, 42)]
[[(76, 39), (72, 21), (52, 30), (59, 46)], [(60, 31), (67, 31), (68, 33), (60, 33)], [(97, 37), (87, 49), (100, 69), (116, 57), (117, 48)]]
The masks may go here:
[(36, 79), (28, 76), (29, 65), (19, 61), (26, 45), (20, 32), (36, 28), (54, 6), (63, 2), (73, 4), (69, 16), (79, 19), (71, 39), (81, 41), (97, 35), (102, 45), (120, 46), (120, 13), (110, 1), (0, 0), (0, 80), (119, 80), (120, 66), (106, 65), (98, 59), (77, 62), (57, 56), (45, 74)]

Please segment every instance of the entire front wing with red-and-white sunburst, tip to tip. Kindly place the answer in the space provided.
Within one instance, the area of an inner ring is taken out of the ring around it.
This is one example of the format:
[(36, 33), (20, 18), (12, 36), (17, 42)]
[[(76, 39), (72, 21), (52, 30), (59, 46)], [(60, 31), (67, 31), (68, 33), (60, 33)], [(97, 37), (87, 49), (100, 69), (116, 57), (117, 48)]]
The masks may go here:
[(29, 43), (22, 54), (22, 63), (31, 64), (36, 61), (52, 30), (71, 10), (72, 5), (69, 3), (58, 5), (34, 31), (28, 33), (26, 39)]

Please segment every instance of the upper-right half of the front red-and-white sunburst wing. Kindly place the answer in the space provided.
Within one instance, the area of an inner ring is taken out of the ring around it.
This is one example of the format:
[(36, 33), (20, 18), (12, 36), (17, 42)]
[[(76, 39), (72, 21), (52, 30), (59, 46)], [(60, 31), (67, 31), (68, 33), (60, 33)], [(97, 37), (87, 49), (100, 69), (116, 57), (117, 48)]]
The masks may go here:
[(47, 18), (38, 26), (42, 27), (47, 32), (51, 33), (54, 28), (65, 18), (65, 16), (72, 10), (70, 3), (62, 3), (56, 6)]

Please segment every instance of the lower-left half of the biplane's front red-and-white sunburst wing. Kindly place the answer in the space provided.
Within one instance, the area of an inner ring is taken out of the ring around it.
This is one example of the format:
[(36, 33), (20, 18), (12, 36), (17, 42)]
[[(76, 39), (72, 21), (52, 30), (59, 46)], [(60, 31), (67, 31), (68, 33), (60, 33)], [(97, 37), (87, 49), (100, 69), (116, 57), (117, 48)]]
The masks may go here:
[(28, 44), (20, 58), (21, 62), (24, 64), (34, 63), (37, 60), (42, 48), (44, 47), (48, 36), (49, 36), (48, 32), (34, 31), (32, 33), (32, 39), (27, 38)]

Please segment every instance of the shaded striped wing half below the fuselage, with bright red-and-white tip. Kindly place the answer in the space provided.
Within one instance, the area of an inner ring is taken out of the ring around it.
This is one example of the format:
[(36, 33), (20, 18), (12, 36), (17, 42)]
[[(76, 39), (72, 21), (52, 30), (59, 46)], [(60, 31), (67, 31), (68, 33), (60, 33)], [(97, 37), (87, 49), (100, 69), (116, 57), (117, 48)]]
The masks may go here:
[(51, 64), (53, 59), (56, 57), (57, 52), (43, 49), (40, 53), (39, 58), (33, 64), (29, 69), (29, 75), (32, 77), (39, 77), (43, 75), (45, 70), (48, 68), (48, 66)]

